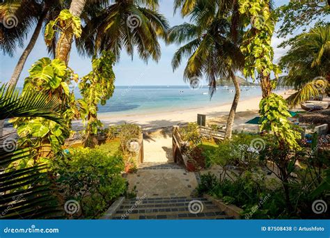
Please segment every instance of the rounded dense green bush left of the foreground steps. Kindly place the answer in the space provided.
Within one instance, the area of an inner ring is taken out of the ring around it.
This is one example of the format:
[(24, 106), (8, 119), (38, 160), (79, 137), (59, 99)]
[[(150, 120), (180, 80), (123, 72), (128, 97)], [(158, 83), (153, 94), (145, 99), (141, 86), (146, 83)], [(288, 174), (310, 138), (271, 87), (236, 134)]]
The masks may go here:
[(126, 193), (127, 184), (120, 175), (123, 170), (121, 156), (109, 156), (100, 149), (77, 148), (54, 162), (56, 183), (64, 200), (77, 200), (80, 212), (74, 216), (88, 219), (98, 218)]

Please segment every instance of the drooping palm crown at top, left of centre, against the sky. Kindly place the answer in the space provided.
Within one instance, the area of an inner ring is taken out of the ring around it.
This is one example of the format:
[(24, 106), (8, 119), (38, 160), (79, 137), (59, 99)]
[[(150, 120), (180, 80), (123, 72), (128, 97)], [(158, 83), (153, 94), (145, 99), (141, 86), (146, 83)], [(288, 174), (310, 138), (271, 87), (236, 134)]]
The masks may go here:
[(118, 61), (123, 48), (132, 57), (135, 48), (144, 61), (150, 57), (158, 61), (161, 55), (158, 37), (165, 38), (169, 26), (157, 7), (157, 0), (116, 0), (113, 5), (88, 15), (77, 40), (79, 52), (94, 56), (110, 50)]

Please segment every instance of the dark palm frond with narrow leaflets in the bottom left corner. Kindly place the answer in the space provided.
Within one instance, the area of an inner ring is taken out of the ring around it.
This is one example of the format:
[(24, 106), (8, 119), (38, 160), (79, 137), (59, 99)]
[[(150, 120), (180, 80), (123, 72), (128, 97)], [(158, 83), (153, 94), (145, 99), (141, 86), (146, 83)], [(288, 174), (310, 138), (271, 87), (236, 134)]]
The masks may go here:
[(0, 168), (6, 168), (0, 173), (0, 219), (61, 218), (54, 189), (45, 173), (47, 166), (8, 167), (8, 164), (29, 157), (29, 149), (8, 152), (0, 148)]

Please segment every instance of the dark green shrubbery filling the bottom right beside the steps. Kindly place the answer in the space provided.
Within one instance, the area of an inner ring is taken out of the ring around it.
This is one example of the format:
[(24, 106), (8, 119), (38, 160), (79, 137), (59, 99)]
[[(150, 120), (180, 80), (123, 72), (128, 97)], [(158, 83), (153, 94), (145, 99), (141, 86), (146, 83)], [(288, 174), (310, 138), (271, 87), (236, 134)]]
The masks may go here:
[(237, 134), (209, 154), (221, 173), (202, 175), (197, 190), (241, 207), (244, 219), (326, 219), (311, 204), (329, 200), (328, 143), (315, 136), (311, 147), (295, 150), (274, 135)]

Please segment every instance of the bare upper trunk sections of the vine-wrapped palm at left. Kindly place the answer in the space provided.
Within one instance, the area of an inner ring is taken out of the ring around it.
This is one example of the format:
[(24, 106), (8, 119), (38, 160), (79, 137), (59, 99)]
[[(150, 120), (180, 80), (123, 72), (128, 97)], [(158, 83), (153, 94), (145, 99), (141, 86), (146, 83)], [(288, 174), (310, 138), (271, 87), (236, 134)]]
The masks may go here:
[[(80, 17), (84, 6), (86, 5), (86, 0), (72, 0), (70, 5), (70, 13), (76, 17)], [(69, 54), (71, 50), (73, 40), (72, 28), (69, 27), (61, 34), (56, 45), (56, 55), (55, 58), (59, 58), (68, 65)]]

